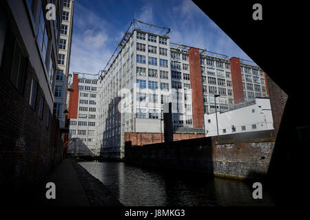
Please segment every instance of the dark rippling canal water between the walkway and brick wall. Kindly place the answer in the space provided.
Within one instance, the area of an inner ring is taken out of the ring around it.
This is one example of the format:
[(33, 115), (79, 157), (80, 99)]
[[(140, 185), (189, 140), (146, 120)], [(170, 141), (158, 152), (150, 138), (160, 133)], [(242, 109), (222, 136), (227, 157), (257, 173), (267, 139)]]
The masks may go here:
[[(125, 206), (275, 206), (267, 188), (203, 174), (141, 168), (124, 162), (79, 162)], [(253, 184), (253, 183), (252, 183)]]

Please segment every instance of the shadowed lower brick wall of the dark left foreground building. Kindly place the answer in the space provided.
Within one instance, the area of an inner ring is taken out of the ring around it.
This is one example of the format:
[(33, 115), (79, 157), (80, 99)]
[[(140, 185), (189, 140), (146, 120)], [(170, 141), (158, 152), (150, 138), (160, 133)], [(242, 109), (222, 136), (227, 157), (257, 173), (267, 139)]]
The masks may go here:
[[(39, 118), (38, 88), (35, 109), (30, 107), (31, 80), (35, 74), (28, 64), (23, 94), (1, 72), (0, 77), (0, 187), (20, 190), (39, 181), (51, 168), (52, 159), (61, 159), (61, 133), (56, 118), (44, 100)], [(48, 114), (50, 122), (47, 125)], [(57, 133), (55, 144), (55, 133)], [(54, 152), (54, 146), (56, 151)]]

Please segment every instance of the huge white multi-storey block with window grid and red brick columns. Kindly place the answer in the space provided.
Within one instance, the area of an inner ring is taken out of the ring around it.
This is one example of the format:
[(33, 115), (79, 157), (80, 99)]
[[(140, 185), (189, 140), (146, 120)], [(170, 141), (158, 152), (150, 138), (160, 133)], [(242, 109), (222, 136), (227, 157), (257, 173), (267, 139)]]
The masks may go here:
[[(99, 80), (101, 155), (123, 157), (124, 133), (162, 133), (165, 102), (172, 102), (175, 129), (195, 129), (204, 126), (204, 113), (267, 96), (262, 69), (242, 62), (134, 29)], [(245, 68), (253, 82), (243, 92)]]

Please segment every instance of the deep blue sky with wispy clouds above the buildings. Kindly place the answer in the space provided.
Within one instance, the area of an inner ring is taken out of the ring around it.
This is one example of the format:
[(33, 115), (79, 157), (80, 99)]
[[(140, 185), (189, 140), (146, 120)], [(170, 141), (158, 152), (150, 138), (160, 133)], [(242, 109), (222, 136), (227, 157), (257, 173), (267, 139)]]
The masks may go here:
[(103, 69), (133, 19), (170, 28), (173, 43), (251, 61), (190, 0), (75, 0), (70, 73)]

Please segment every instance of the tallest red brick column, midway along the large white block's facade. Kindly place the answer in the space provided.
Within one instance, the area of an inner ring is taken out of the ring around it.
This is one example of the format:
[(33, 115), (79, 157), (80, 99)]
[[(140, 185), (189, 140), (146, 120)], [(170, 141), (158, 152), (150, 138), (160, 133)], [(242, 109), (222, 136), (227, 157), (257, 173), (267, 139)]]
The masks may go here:
[(203, 83), (200, 72), (200, 54), (197, 48), (189, 49), (189, 73), (192, 88), (193, 126), (200, 128), (205, 125), (203, 111)]

